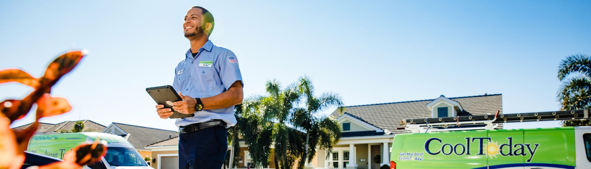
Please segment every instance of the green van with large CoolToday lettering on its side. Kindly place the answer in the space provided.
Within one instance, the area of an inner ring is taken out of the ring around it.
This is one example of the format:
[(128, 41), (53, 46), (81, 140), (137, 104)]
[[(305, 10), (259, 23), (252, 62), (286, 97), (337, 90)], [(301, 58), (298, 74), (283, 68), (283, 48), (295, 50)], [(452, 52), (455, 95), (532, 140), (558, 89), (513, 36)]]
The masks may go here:
[(390, 168), (591, 168), (591, 126), (395, 135)]

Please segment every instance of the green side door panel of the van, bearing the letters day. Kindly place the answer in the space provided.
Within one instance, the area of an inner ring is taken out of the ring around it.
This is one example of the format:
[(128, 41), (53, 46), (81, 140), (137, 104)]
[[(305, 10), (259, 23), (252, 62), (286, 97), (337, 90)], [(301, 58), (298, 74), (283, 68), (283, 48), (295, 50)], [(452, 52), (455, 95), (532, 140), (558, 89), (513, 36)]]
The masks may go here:
[(491, 138), (482, 145), (482, 154), (486, 155), (489, 167), (524, 168), (523, 131), (489, 131)]

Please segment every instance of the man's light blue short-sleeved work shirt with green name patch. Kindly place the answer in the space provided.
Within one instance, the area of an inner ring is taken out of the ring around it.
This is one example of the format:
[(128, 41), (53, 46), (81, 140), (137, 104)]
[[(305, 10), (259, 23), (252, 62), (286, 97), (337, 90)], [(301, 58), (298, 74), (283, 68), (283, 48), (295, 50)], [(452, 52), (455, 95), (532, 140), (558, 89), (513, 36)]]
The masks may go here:
[[(184, 60), (178, 63), (174, 74), (174, 90), (193, 98), (219, 95), (226, 92), (236, 80), (243, 82), (236, 55), (227, 48), (213, 45), (212, 41), (207, 41), (203, 47), (199, 48), (195, 58), (189, 48)], [(242, 86), (244, 86), (243, 83)], [(225, 121), (226, 128), (236, 125), (234, 106), (195, 112), (195, 116), (178, 118), (174, 124), (180, 127), (213, 119)]]

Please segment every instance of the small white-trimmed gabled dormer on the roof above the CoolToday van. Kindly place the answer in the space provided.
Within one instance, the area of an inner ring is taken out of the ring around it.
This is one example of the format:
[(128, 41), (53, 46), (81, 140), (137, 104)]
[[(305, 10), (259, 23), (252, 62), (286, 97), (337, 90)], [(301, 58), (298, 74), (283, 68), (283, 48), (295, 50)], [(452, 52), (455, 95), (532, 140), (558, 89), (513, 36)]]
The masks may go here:
[(445, 118), (457, 116), (458, 112), (462, 112), (462, 106), (460, 103), (448, 99), (441, 95), (439, 98), (433, 100), (427, 104), (427, 109), (431, 111), (432, 118)]

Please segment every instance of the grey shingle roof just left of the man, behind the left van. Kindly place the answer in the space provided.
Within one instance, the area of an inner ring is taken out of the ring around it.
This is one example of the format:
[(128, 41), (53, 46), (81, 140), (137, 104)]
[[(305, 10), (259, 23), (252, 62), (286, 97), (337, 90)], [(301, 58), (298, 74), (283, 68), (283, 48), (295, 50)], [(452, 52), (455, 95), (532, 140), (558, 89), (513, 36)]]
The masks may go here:
[(134, 146), (135, 150), (147, 150), (145, 147), (148, 145), (170, 139), (170, 136), (178, 137), (176, 131), (119, 123), (113, 123), (113, 125), (116, 125), (126, 133), (131, 134), (127, 141)]

